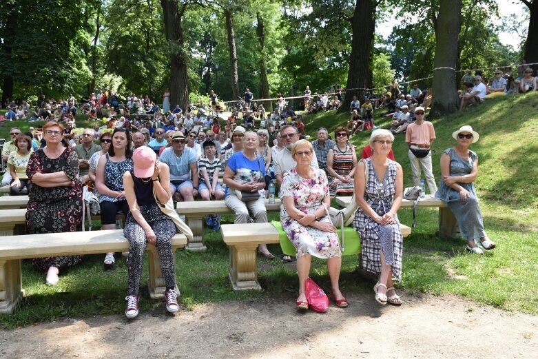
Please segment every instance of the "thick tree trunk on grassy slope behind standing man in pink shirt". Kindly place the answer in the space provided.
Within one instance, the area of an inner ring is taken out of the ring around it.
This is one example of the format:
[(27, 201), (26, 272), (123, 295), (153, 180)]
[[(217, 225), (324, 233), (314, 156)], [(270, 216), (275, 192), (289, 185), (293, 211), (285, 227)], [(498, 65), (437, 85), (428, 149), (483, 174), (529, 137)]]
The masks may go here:
[(455, 65), (461, 17), (462, 0), (441, 0), (439, 2), (439, 17), (435, 25), (431, 118), (450, 114), (459, 108)]

